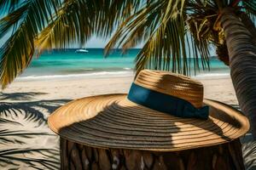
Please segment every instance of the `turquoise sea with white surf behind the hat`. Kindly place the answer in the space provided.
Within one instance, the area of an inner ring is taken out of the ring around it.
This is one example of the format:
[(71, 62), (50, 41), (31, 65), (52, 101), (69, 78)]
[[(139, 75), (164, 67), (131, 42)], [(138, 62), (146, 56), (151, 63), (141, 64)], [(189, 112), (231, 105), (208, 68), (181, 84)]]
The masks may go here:
[[(88, 48), (88, 53), (76, 53), (76, 49), (45, 51), (39, 58), (32, 59), (31, 65), (19, 79), (48, 79), (67, 77), (108, 77), (132, 75), (134, 59), (140, 49), (129, 49), (122, 54), (113, 50), (104, 58), (102, 48)], [(217, 58), (210, 60), (211, 71), (197, 72), (198, 76), (221, 76), (229, 74), (229, 69)]]

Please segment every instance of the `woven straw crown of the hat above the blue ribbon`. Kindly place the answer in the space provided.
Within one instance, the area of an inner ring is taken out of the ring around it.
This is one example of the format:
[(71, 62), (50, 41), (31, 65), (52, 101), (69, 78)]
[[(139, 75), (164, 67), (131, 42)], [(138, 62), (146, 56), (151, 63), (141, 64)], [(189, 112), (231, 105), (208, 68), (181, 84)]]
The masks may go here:
[(201, 108), (203, 103), (201, 82), (180, 74), (143, 70), (138, 74), (135, 83), (143, 88), (184, 99), (196, 108)]

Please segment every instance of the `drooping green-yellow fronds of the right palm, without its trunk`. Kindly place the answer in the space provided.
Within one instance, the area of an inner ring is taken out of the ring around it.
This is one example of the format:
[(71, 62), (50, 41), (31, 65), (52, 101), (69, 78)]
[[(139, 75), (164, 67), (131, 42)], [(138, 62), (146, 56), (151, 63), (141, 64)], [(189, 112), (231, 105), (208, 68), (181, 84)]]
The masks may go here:
[[(215, 26), (215, 23), (218, 22), (218, 10), (232, 5), (241, 5), (237, 9), (247, 8), (243, 4), (243, 2), (246, 2), (253, 12), (252, 8), (254, 6), (253, 1), (241, 2), (236, 0), (187, 0), (182, 5), (173, 4), (178, 4), (177, 2), (155, 1), (144, 5), (139, 12), (133, 14), (119, 26), (118, 31), (108, 42), (106, 47), (107, 54), (110, 48), (113, 47), (126, 49), (136, 46), (139, 42), (145, 42), (142, 51), (137, 55), (137, 71), (151, 68), (189, 74), (190, 70), (188, 68), (191, 67), (194, 67), (195, 71), (200, 70), (201, 67), (209, 69), (209, 46), (214, 44), (218, 47), (225, 47), (223, 31), (221, 29), (216, 30)], [(162, 6), (161, 10), (153, 9), (152, 7), (155, 3), (165, 5)], [(164, 20), (164, 16), (172, 16), (172, 14), (168, 14), (168, 3), (172, 4), (170, 6), (172, 10), (169, 11), (173, 12), (177, 8), (175, 12), (179, 16), (171, 17), (172, 22), (170, 23), (176, 23), (176, 26), (172, 26), (172, 29), (169, 29), (169, 32), (171, 31), (170, 34), (167, 34), (167, 30), (163, 29), (167, 26), (167, 20)], [(182, 8), (183, 10), (180, 10)], [(176, 21), (174, 22), (173, 20)], [(180, 22), (179, 20), (183, 21)], [(178, 26), (177, 23), (183, 23), (183, 26)], [(157, 31), (158, 28), (159, 30)], [(160, 30), (161, 33), (159, 32)], [(165, 45), (163, 37), (167, 35), (171, 35), (171, 37), (166, 38), (168, 40)], [(228, 57), (228, 54), (226, 56)]]

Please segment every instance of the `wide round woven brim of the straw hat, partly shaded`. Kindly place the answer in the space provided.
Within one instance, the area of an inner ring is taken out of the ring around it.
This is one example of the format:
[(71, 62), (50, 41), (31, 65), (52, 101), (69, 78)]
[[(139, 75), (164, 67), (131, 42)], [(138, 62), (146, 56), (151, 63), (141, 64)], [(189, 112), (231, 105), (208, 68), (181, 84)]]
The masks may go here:
[(247, 133), (240, 111), (218, 101), (206, 120), (181, 118), (137, 105), (126, 94), (76, 99), (49, 116), (49, 127), (61, 138), (96, 148), (172, 151), (222, 144)]

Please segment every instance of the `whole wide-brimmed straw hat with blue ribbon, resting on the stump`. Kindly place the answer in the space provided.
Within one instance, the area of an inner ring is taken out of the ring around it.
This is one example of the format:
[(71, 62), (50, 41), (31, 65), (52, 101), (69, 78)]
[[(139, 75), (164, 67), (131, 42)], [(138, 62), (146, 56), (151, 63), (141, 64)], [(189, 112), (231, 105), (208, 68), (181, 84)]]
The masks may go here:
[(171, 151), (237, 139), (248, 120), (229, 105), (203, 100), (203, 86), (166, 71), (139, 73), (129, 94), (76, 99), (56, 110), (49, 127), (97, 148)]

